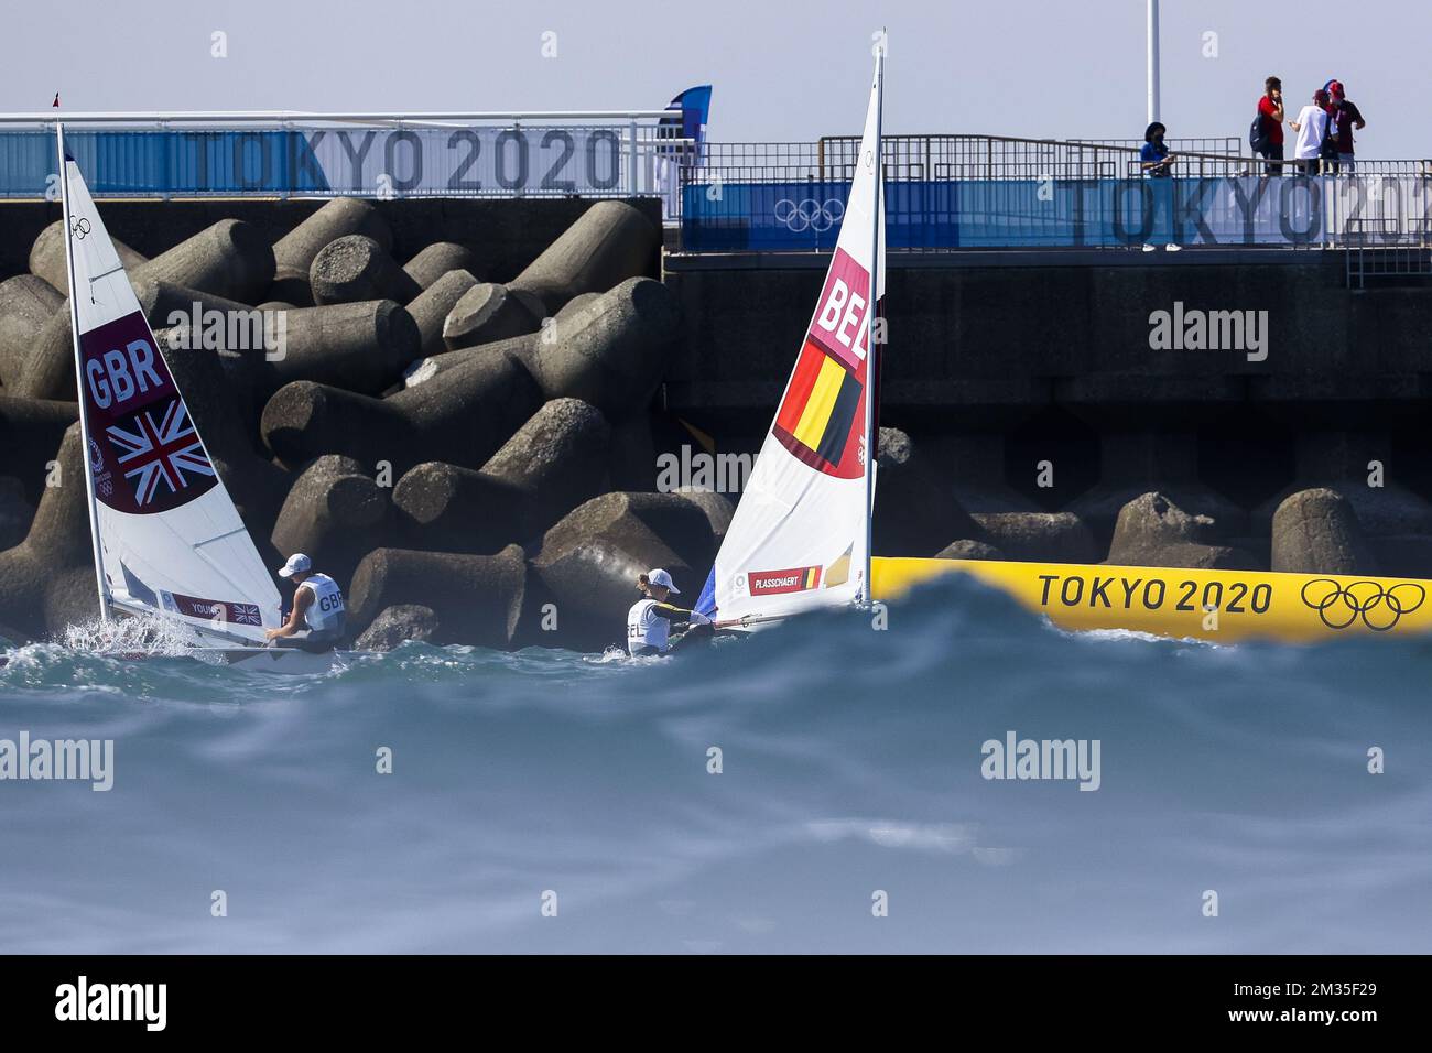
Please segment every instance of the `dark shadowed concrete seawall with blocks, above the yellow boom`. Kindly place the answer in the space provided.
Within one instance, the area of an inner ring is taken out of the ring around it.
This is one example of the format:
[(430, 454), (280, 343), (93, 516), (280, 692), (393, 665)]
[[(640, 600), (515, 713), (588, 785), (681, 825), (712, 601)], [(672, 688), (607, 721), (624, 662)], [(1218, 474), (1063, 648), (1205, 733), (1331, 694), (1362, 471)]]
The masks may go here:
[[(667, 256), (666, 408), (753, 448), (825, 262)], [(911, 441), (876, 553), (1432, 577), (1413, 282), (1287, 249), (892, 255), (881, 420)]]

